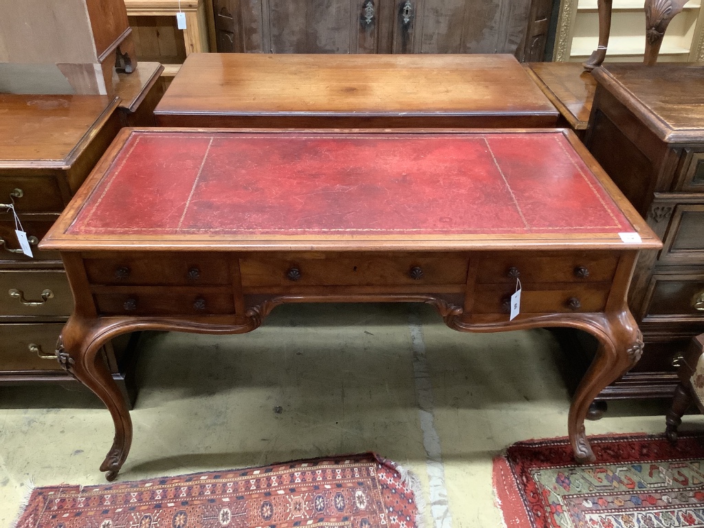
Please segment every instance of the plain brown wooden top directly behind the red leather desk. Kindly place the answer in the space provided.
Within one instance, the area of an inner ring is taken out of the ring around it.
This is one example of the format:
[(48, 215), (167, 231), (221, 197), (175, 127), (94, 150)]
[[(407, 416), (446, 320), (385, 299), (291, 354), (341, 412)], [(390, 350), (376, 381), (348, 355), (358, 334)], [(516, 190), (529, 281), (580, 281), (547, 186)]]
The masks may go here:
[(505, 54), (191, 54), (155, 113), (558, 116)]

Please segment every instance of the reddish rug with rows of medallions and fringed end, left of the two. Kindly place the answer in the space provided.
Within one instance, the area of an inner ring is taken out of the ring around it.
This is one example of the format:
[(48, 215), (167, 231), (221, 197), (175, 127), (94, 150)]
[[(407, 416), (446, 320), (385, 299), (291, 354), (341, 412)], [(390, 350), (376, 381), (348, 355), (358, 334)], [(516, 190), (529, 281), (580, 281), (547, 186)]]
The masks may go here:
[(415, 486), (400, 467), (366, 453), (106, 486), (37, 488), (17, 527), (418, 528)]

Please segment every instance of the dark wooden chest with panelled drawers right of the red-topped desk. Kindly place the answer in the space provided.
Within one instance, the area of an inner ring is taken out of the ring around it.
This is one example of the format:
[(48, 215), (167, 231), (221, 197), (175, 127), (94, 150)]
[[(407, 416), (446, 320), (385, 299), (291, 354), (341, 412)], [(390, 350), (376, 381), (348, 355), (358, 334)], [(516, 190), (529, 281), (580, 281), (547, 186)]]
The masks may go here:
[(704, 332), (704, 65), (593, 75), (585, 144), (664, 243), (641, 254), (629, 293), (643, 358), (600, 397), (671, 396), (679, 356)]

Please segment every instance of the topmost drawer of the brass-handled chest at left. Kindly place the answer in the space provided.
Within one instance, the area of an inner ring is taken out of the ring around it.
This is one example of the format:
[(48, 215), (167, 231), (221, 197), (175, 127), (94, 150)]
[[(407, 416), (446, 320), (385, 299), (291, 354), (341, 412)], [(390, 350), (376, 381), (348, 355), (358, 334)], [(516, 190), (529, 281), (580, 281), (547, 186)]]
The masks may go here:
[(11, 199), (18, 213), (61, 213), (66, 205), (53, 176), (0, 177), (0, 203)]

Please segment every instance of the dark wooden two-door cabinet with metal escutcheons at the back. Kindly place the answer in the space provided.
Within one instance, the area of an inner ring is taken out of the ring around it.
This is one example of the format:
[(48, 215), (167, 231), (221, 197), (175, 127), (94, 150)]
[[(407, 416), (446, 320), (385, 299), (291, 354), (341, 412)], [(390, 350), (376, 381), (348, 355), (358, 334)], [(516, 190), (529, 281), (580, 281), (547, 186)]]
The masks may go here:
[(510, 53), (541, 60), (550, 0), (213, 0), (218, 51)]

